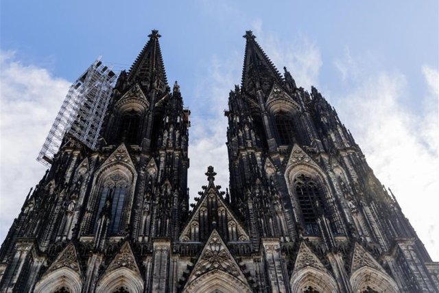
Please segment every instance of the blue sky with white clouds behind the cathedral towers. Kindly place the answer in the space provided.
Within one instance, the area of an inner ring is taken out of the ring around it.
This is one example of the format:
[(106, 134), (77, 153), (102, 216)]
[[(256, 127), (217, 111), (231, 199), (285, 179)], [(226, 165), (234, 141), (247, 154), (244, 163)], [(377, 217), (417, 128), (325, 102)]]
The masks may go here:
[(97, 56), (128, 69), (152, 29), (191, 108), (191, 195), (208, 165), (227, 187), (223, 110), (253, 30), (279, 69), (335, 106), (439, 260), (438, 1), (146, 2), (1, 2), (1, 242), (45, 172), (35, 158), (69, 84)]

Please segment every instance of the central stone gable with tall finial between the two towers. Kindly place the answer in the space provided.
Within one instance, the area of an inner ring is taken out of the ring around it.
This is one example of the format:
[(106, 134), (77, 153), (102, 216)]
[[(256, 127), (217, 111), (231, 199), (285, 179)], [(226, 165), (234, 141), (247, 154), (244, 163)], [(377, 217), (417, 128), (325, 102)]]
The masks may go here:
[(198, 200), (197, 205), (191, 213), (191, 217), (180, 234), (182, 242), (204, 242), (209, 235), (204, 235), (200, 227), (208, 226), (208, 232), (217, 229), (220, 234), (230, 241), (248, 241), (250, 237), (244, 226), (237, 220), (219, 194), (217, 187), (213, 184), (213, 167), (209, 166), (206, 175), (209, 177), (209, 185)]

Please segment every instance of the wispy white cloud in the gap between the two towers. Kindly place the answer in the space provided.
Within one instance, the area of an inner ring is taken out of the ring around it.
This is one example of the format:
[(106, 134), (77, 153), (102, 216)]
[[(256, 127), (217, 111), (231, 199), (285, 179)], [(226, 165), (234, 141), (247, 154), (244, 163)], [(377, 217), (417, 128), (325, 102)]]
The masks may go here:
[(223, 111), (228, 108), (228, 93), (239, 82), (241, 58), (237, 52), (223, 62), (214, 57), (191, 100), (188, 185), (192, 197), (206, 185), (204, 173), (209, 165), (217, 172), (215, 184), (221, 185), (224, 191), (228, 187), (227, 119)]

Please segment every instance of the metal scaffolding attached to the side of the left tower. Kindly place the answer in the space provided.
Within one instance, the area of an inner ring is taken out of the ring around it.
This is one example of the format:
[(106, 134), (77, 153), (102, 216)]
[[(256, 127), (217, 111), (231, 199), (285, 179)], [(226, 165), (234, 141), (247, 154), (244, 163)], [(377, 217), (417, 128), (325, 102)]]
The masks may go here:
[(96, 150), (99, 132), (117, 75), (97, 58), (69, 89), (36, 160), (50, 167), (64, 134), (69, 132)]

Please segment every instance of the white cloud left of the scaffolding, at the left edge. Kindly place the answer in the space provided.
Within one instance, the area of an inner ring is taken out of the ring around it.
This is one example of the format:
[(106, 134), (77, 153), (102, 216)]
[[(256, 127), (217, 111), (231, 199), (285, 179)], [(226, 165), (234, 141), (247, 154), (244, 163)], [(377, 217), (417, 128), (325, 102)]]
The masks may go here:
[(0, 239), (30, 187), (45, 173), (35, 161), (70, 83), (0, 51)]

